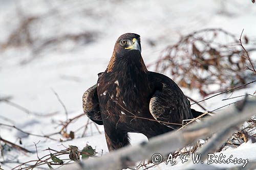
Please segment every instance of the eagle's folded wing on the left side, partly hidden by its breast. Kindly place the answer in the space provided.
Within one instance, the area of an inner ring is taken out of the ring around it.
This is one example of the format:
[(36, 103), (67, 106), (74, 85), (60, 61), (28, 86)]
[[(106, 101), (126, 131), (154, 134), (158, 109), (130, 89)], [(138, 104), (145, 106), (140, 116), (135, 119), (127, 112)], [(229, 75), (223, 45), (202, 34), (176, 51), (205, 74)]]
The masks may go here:
[[(98, 74), (100, 76), (101, 73)], [(97, 84), (90, 87), (82, 96), (83, 112), (96, 124), (103, 125), (99, 100), (97, 94)]]

